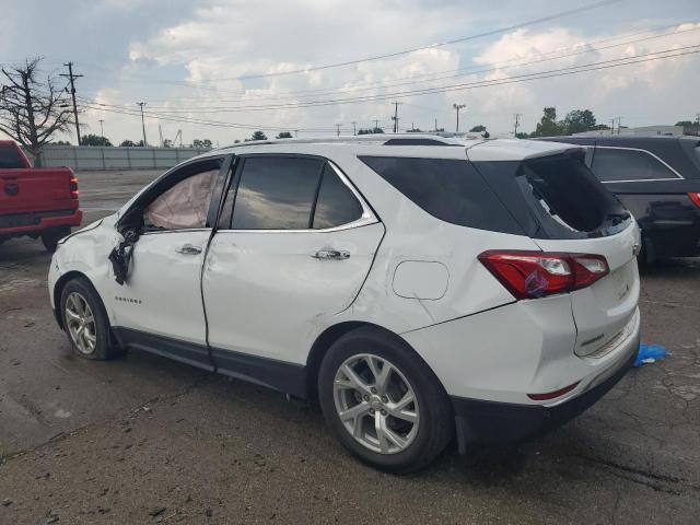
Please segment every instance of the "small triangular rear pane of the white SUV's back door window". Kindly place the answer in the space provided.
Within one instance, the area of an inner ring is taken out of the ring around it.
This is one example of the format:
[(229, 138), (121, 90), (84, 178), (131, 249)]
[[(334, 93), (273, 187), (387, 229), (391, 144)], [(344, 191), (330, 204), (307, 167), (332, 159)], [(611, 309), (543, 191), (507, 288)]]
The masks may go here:
[(362, 206), (328, 164), (324, 167), (314, 210), (314, 230), (340, 226), (362, 217)]

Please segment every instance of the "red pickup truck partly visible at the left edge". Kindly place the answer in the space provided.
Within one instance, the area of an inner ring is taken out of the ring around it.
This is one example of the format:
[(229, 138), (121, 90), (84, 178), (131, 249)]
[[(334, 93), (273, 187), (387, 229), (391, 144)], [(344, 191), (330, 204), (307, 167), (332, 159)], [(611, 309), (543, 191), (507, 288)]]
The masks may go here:
[(80, 225), (78, 178), (70, 167), (32, 167), (22, 149), (0, 140), (0, 243), (28, 235), (49, 252)]

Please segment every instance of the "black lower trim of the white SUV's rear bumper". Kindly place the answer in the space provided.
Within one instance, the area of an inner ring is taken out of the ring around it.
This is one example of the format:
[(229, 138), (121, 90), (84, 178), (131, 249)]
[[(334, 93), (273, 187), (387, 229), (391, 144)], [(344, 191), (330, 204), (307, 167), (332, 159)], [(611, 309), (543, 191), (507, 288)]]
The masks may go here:
[[(499, 444), (525, 441), (541, 435), (575, 418), (610, 390), (630, 370), (639, 349), (639, 330), (626, 345), (623, 355), (600, 375), (600, 382), (582, 394), (553, 407), (517, 405), (451, 397), (459, 452), (469, 443)], [(621, 362), (620, 362), (621, 361)], [(610, 373), (611, 372), (611, 373)]]

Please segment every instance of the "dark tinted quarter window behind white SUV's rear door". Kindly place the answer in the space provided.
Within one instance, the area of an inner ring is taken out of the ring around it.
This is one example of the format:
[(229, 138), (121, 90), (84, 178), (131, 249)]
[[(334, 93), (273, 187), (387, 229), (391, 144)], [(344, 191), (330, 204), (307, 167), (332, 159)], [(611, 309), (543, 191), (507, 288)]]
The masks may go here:
[(360, 156), (387, 183), (431, 215), (453, 224), (523, 234), (467, 160)]

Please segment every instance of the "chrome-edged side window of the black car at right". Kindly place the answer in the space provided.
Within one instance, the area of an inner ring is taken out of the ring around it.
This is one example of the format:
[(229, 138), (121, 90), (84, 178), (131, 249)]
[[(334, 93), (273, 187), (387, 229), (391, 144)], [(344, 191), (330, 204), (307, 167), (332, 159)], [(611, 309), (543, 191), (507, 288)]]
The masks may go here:
[(593, 155), (592, 170), (598, 180), (606, 183), (678, 178), (663, 162), (642, 150), (598, 147)]

